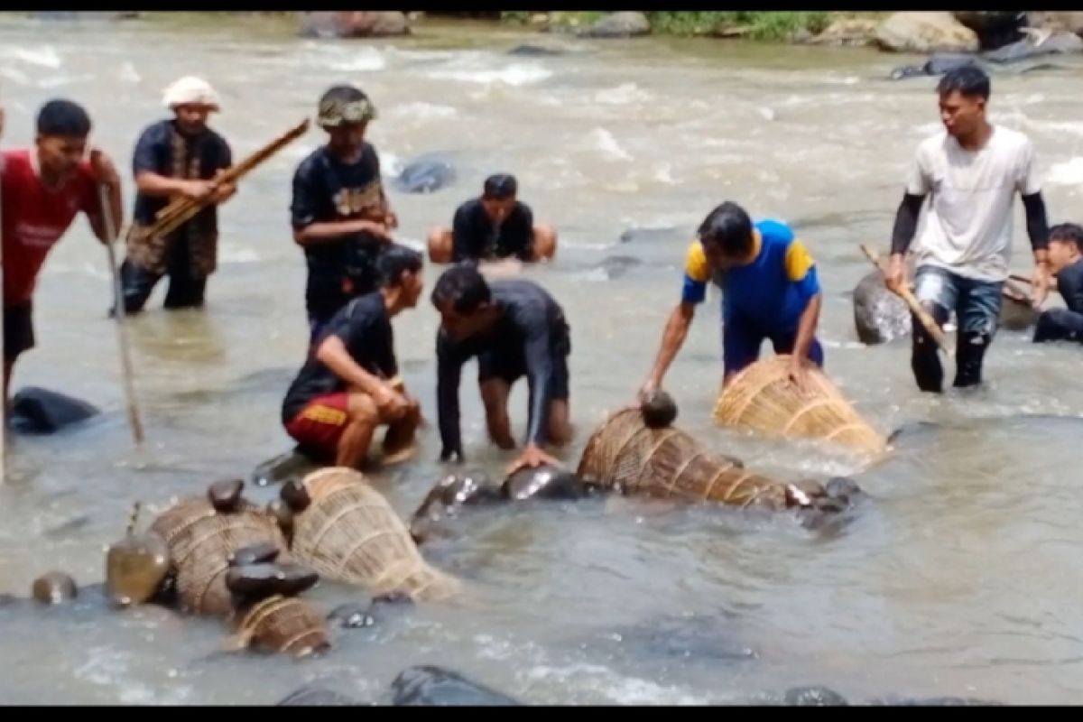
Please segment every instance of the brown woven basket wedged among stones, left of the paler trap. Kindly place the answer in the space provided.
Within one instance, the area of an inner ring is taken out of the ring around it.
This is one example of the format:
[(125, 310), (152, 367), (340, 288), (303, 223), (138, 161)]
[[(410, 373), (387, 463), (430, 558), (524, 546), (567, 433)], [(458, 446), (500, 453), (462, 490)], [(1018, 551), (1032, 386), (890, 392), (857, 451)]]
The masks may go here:
[(159, 514), (151, 529), (169, 548), (178, 605), (187, 613), (233, 614), (233, 595), (225, 586), (233, 552), (270, 542), (278, 548), (279, 561), (288, 561), (286, 538), (275, 520), (248, 503), (224, 514), (207, 499), (184, 499)]

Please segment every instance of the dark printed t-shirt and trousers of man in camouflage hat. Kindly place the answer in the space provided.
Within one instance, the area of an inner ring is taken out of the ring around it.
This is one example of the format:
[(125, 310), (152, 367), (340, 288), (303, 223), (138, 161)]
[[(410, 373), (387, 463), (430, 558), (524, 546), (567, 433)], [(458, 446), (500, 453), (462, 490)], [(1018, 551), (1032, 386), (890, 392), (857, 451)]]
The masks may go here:
[[(293, 174), (290, 218), (299, 231), (313, 223), (366, 218), (387, 210), (380, 161), (364, 144), (361, 159), (345, 163), (326, 146), (313, 150)], [(304, 247), (309, 278), (304, 291), (310, 326), (323, 326), (351, 299), (377, 289), (376, 261), (384, 241), (369, 233)]]

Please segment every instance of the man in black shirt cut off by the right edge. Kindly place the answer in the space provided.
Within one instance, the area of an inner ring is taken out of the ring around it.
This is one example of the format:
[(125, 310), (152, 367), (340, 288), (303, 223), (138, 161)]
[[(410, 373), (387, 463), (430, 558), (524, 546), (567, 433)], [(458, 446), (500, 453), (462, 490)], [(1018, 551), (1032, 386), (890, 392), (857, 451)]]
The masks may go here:
[(1061, 223), (1049, 228), (1049, 266), (1067, 309), (1049, 309), (1038, 317), (1034, 343), (1083, 343), (1083, 227)]

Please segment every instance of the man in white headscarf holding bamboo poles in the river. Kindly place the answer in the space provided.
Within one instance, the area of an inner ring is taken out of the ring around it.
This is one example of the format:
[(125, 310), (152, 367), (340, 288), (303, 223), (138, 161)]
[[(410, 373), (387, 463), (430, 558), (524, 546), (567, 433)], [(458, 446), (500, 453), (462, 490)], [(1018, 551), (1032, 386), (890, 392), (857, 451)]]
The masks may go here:
[[(220, 109), (210, 83), (180, 78), (166, 89), (164, 104), (173, 117), (147, 127), (132, 156), (138, 194), (128, 257), (120, 267), (127, 313), (140, 312), (166, 275), (166, 309), (203, 306), (207, 277), (218, 265), (218, 205), (236, 192), (216, 181), (233, 163), (233, 154), (207, 126), (208, 116)], [(172, 233), (152, 236), (155, 216), (178, 197), (210, 197), (212, 202)]]

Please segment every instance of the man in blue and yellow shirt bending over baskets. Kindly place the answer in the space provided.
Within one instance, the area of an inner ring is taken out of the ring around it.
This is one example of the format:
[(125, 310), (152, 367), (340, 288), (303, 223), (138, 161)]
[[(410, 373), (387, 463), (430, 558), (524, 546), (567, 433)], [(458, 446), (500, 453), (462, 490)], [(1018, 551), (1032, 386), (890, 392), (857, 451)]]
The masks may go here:
[(754, 224), (744, 209), (730, 201), (710, 211), (697, 235), (688, 251), (680, 303), (666, 324), (641, 395), (662, 384), (710, 281), (722, 289), (723, 384), (759, 358), (767, 339), (775, 353), (794, 356), (790, 376), (800, 384), (804, 370), (798, 359), (823, 365), (823, 347), (815, 338), (820, 281), (804, 244), (784, 223)]

